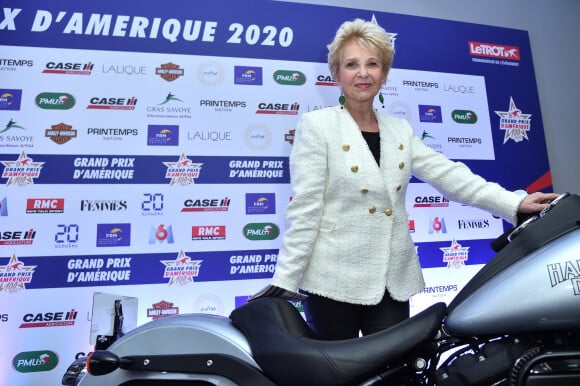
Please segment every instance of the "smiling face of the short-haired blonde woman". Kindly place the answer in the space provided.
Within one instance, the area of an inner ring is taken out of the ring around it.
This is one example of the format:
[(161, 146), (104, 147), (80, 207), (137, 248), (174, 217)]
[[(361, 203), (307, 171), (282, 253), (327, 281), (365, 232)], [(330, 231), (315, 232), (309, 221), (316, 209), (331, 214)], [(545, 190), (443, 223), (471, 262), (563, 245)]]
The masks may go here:
[(345, 103), (372, 104), (386, 81), (383, 72), (375, 48), (366, 48), (356, 41), (347, 42), (342, 48), (336, 79), (346, 97)]

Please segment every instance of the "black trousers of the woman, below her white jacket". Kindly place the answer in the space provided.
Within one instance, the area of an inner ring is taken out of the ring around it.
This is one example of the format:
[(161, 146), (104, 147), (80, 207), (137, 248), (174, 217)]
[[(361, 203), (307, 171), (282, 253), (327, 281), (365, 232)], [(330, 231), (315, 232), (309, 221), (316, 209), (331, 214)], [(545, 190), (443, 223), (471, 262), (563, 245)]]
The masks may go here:
[[(303, 291), (304, 292), (304, 291)], [(352, 339), (389, 328), (409, 318), (409, 302), (394, 300), (385, 291), (379, 304), (365, 306), (304, 292), (302, 302), (310, 328), (325, 340)]]

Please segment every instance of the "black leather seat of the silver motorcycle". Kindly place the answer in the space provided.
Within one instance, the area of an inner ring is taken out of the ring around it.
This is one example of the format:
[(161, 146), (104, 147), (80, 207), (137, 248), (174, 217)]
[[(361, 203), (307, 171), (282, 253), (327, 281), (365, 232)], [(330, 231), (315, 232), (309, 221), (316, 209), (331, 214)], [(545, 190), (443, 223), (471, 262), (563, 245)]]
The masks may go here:
[(230, 319), (276, 384), (351, 385), (412, 358), (435, 335), (446, 309), (436, 303), (384, 331), (339, 341), (317, 339), (299, 311), (280, 298), (246, 303)]

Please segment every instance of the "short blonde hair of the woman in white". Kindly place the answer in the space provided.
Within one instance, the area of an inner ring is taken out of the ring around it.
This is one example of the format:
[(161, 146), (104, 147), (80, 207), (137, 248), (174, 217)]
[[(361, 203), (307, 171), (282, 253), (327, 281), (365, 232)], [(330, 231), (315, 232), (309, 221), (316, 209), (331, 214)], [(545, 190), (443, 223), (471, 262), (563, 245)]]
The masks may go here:
[(354, 19), (342, 23), (336, 31), (334, 40), (327, 46), (328, 68), (334, 78), (338, 74), (342, 48), (350, 41), (356, 41), (367, 48), (375, 48), (379, 54), (383, 74), (387, 76), (395, 56), (395, 48), (389, 34), (377, 23)]

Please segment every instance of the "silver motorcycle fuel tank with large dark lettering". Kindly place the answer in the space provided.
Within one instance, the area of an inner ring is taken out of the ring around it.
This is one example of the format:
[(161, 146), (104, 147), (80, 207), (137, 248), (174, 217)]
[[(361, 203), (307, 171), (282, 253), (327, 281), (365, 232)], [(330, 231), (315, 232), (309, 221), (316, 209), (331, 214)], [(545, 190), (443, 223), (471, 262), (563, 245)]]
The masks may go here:
[(580, 329), (580, 229), (523, 256), (453, 304), (455, 336)]

